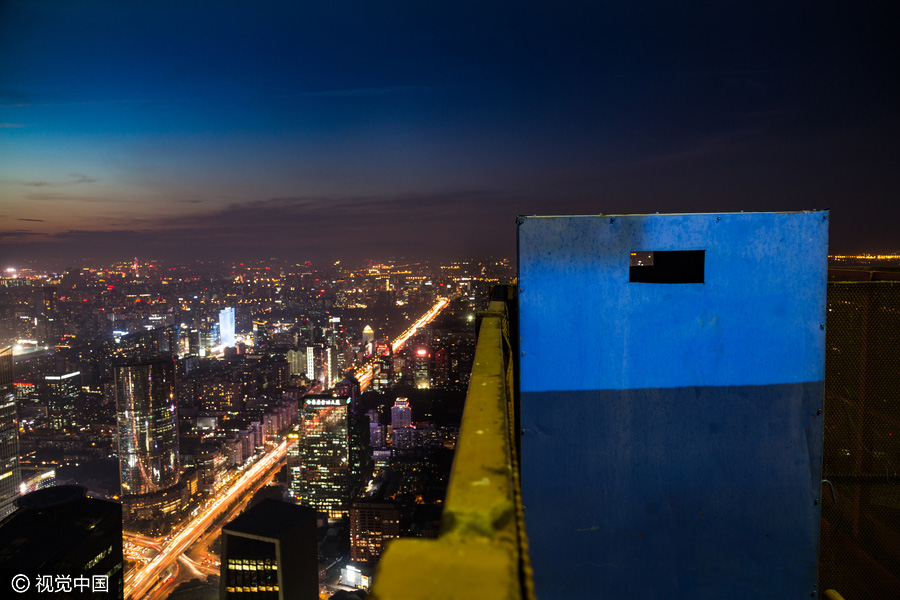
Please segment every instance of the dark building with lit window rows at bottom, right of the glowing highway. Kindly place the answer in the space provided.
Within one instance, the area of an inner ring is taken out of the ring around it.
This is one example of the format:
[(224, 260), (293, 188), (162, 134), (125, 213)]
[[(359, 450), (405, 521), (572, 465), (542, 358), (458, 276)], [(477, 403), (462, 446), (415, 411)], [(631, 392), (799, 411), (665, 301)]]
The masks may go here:
[(219, 598), (319, 597), (316, 513), (269, 498), (222, 528)]

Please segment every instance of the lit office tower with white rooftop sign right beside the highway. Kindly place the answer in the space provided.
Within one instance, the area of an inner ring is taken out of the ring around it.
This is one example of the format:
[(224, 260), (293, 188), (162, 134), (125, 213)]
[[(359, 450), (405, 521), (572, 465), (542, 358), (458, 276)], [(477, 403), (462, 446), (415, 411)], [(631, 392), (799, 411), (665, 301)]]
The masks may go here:
[(347, 516), (350, 496), (349, 402), (311, 395), (304, 399), (299, 441), (299, 501), (329, 518)]

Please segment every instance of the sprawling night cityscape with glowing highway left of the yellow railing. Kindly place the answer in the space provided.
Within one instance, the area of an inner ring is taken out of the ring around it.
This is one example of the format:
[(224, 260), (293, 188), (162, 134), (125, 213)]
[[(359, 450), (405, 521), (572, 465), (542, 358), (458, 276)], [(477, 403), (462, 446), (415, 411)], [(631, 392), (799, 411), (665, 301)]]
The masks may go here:
[(506, 260), (8, 267), (3, 514), (65, 484), (120, 503), (124, 593), (162, 598), (217, 590), (222, 525), (277, 498), (317, 511), (323, 595), (368, 588), (390, 539), (439, 531), (475, 314), (512, 277)]

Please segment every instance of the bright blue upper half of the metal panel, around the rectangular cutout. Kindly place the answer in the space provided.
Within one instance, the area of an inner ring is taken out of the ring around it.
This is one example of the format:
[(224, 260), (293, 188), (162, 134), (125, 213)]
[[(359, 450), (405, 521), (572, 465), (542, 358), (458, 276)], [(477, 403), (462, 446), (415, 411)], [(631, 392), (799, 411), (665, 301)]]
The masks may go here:
[[(525, 217), (522, 389), (821, 380), (825, 214)], [(634, 250), (706, 250), (706, 282), (629, 284)]]

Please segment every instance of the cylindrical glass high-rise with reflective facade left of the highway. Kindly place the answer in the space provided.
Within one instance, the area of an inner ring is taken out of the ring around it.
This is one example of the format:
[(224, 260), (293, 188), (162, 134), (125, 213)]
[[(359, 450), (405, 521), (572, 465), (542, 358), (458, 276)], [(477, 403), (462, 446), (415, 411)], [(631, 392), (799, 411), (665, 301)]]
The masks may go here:
[(178, 499), (175, 365), (159, 359), (116, 368), (116, 413), (122, 502), (142, 515), (171, 512)]

